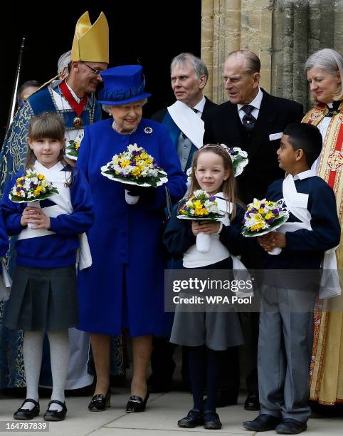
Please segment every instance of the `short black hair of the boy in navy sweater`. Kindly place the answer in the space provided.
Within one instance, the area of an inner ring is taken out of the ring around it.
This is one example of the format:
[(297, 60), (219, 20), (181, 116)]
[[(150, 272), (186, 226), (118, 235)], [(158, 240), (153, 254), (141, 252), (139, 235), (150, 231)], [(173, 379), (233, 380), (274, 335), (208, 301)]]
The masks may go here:
[(307, 165), (312, 166), (322, 151), (322, 135), (315, 125), (307, 123), (292, 123), (283, 130), (284, 135), (288, 135), (288, 141), (293, 150), (300, 148), (304, 152)]

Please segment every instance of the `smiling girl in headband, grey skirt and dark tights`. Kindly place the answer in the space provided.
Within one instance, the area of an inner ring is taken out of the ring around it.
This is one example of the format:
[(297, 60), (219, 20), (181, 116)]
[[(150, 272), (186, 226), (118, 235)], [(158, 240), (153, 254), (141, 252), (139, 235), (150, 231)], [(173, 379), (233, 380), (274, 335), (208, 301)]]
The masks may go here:
[[(226, 213), (222, 222), (177, 219), (177, 211), (195, 190), (217, 194), (226, 200), (224, 204), (231, 203), (231, 212)], [(189, 195), (181, 200), (164, 233), (164, 244), (169, 254), (174, 259), (182, 257), (184, 268), (232, 269), (231, 254), (238, 255), (241, 250), (239, 240), (244, 215), (243, 207), (237, 202), (236, 180), (230, 155), (221, 145), (204, 145), (194, 154)], [(207, 253), (196, 249), (196, 235), (199, 232), (211, 236), (210, 250)], [(189, 351), (194, 407), (186, 417), (179, 420), (179, 427), (189, 428), (204, 424), (204, 428), (209, 430), (221, 428), (221, 421), (216, 413), (218, 380), (223, 351), (243, 343), (238, 314), (176, 310), (170, 341), (186, 346)], [(205, 403), (204, 388), (207, 390)]]

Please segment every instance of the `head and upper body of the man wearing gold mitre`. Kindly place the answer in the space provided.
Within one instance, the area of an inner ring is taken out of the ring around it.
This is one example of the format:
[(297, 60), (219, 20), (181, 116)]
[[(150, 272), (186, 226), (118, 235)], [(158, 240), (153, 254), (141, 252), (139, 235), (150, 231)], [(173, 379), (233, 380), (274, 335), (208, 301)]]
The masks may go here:
[[(68, 157), (68, 147), (76, 142), (80, 145), (85, 125), (101, 119), (94, 93), (102, 81), (100, 71), (105, 70), (109, 62), (108, 24), (103, 13), (93, 25), (88, 11), (78, 19), (70, 58), (68, 77), (63, 81), (53, 80), (31, 95), (9, 126), (0, 155), (1, 194), (11, 177), (23, 169), (28, 125), (34, 115), (58, 112), (63, 116)], [(15, 159), (12, 160), (12, 156)], [(75, 164), (77, 157), (71, 157)]]

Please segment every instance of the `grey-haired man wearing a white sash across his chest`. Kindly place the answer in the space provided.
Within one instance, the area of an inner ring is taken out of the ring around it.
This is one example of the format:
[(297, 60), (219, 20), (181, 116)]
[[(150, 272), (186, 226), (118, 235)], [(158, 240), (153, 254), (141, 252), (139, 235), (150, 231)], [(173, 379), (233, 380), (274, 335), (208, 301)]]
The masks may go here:
[[(209, 71), (203, 61), (191, 53), (180, 53), (171, 61), (171, 88), (176, 102), (168, 108), (159, 110), (152, 119), (167, 126), (179, 155), (182, 170), (191, 167), (194, 152), (203, 145), (204, 116), (213, 107), (204, 96), (204, 88)], [(169, 264), (169, 268), (176, 268)], [(181, 264), (179, 268), (182, 268)], [(152, 376), (149, 378), (151, 392), (162, 392), (171, 388), (175, 363), (172, 358), (175, 346), (169, 338), (154, 338), (152, 352)], [(183, 351), (182, 378), (185, 388), (189, 387), (188, 362)]]

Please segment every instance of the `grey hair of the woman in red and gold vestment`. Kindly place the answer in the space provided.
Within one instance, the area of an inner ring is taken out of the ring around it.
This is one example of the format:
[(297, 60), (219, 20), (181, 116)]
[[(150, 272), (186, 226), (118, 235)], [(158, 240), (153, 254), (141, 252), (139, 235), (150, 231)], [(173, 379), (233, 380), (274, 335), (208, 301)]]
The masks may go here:
[[(307, 73), (312, 68), (321, 68), (334, 77), (339, 73), (341, 80), (343, 79), (343, 58), (332, 48), (322, 48), (322, 50), (315, 51), (305, 62), (305, 72)], [(334, 94), (334, 100), (342, 99), (343, 88), (341, 83), (341, 89)]]

